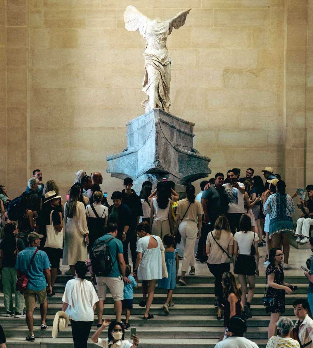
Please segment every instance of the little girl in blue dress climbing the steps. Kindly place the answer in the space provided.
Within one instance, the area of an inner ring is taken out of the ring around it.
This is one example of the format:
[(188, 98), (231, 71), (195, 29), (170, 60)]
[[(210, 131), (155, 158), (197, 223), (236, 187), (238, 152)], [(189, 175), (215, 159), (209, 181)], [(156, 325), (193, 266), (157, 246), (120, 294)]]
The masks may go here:
[(163, 237), (163, 243), (165, 246), (165, 263), (167, 268), (168, 277), (162, 278), (158, 281), (158, 287), (168, 290), (166, 302), (163, 304), (163, 309), (166, 314), (170, 311), (168, 307), (173, 307), (172, 301), (173, 291), (176, 287), (176, 279), (179, 268), (178, 250), (173, 248), (174, 237), (171, 235), (165, 235)]

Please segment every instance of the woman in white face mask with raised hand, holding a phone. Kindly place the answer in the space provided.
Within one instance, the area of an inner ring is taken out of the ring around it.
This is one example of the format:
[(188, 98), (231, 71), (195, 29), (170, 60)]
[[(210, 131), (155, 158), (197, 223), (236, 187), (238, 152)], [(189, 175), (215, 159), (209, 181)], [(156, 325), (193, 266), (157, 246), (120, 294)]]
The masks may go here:
[[(108, 327), (108, 337), (99, 338), (102, 330)], [(105, 319), (102, 326), (93, 334), (91, 340), (99, 347), (104, 348), (135, 348), (139, 345), (139, 337), (133, 335), (133, 344), (124, 340), (125, 329), (124, 325), (119, 322), (111, 322), (110, 319)]]

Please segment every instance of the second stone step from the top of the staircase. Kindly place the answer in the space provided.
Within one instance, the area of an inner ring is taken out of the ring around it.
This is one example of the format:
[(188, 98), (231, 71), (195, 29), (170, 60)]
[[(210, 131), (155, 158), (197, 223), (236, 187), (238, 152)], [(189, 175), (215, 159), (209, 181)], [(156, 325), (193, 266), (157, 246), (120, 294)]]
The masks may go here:
[[(286, 280), (287, 281), (287, 280)], [(188, 279), (187, 279), (188, 282)], [(297, 290), (294, 291), (295, 294), (306, 294), (307, 293), (307, 288), (308, 284), (303, 284), (303, 283), (294, 283), (293, 285), (297, 286)], [(255, 293), (256, 294), (264, 294), (264, 287), (265, 284), (256, 284), (255, 286)], [(53, 290), (56, 293), (64, 293), (65, 289), (65, 284), (60, 284), (56, 283), (53, 286)], [(134, 289), (134, 293), (141, 293), (141, 284), (139, 284), (137, 289)], [(160, 289), (158, 287), (155, 288), (155, 293), (157, 294), (166, 294), (167, 290), (165, 289)], [(177, 285), (175, 290), (175, 294), (212, 294), (214, 293), (214, 284), (204, 284), (204, 283), (191, 283), (188, 285)]]

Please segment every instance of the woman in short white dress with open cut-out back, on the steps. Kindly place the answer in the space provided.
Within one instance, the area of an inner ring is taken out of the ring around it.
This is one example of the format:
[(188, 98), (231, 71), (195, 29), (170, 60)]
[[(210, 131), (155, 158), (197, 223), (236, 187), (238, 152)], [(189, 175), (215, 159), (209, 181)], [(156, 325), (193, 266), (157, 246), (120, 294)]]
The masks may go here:
[[(137, 226), (137, 260), (134, 267), (134, 276), (137, 279), (146, 280), (142, 282), (142, 293), (146, 299), (146, 311), (143, 319), (151, 319), (153, 315), (149, 314), (149, 309), (153, 301), (154, 289), (157, 279), (162, 279), (162, 251), (164, 246), (158, 236), (150, 235), (150, 226), (148, 222), (141, 222)], [(152, 237), (152, 238), (151, 238)]]

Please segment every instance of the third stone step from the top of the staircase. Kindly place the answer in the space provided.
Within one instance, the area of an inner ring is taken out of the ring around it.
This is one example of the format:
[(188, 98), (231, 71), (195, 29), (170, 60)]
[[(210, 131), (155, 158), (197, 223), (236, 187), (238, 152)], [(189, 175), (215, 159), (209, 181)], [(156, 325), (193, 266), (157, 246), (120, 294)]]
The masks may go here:
[[(197, 294), (196, 296), (190, 296), (192, 294), (176, 294), (174, 291), (173, 301), (175, 304), (214, 304), (215, 295), (212, 294)], [(62, 303), (63, 293), (56, 293), (52, 297), (48, 297), (48, 303)], [(260, 294), (255, 294), (252, 299), (252, 304), (263, 304), (262, 297), (264, 296), (264, 292)], [(305, 294), (296, 294), (293, 293), (291, 295), (286, 296), (286, 304), (293, 304), (293, 302), (297, 298), (306, 298)], [(13, 294), (13, 299), (15, 295)], [(142, 300), (142, 294), (134, 294), (133, 304), (139, 304)], [(153, 304), (164, 304), (166, 300), (166, 294), (154, 294)], [(4, 302), (3, 293), (0, 293), (0, 303)], [(113, 298), (110, 293), (107, 294), (105, 304), (112, 304)]]

